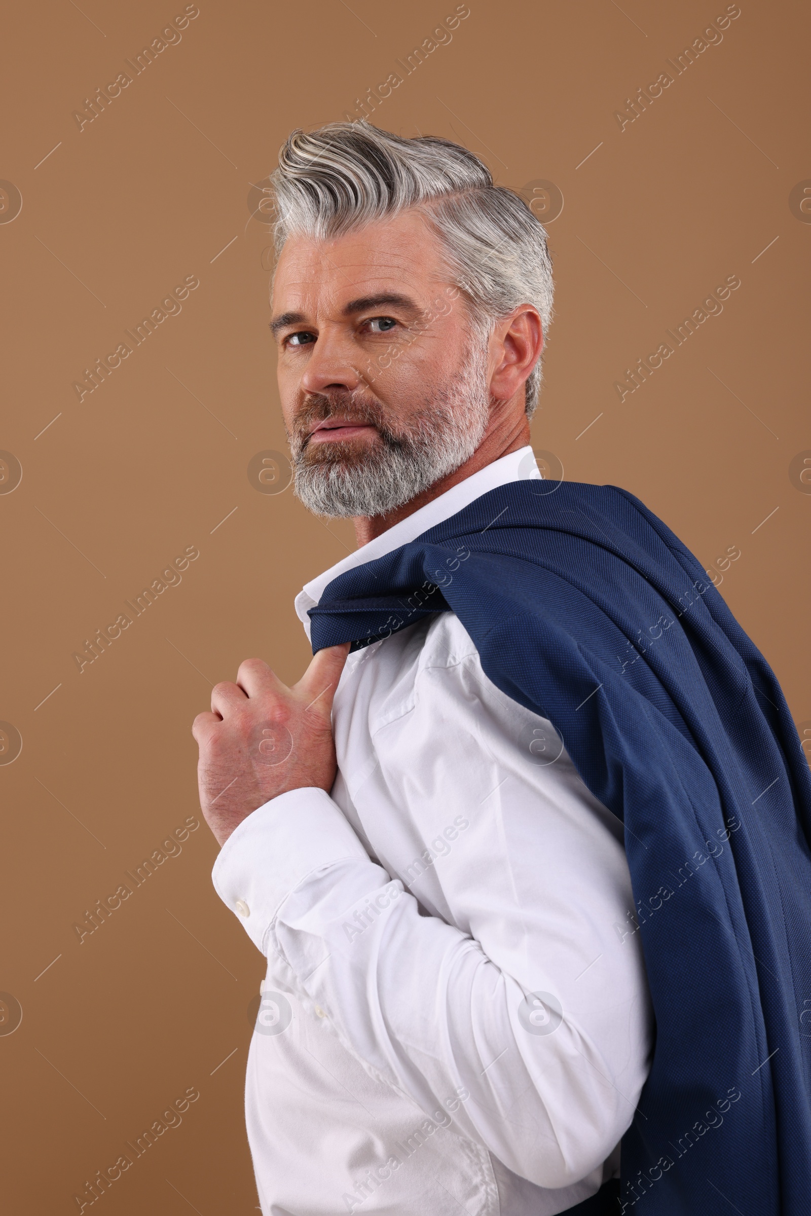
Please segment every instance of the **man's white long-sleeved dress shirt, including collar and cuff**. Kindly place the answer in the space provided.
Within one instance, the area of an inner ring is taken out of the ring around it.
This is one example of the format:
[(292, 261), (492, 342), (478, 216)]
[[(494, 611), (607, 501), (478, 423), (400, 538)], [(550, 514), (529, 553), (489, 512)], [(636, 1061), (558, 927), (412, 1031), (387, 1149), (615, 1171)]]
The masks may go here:
[[(505, 456), (308, 584), (488, 490)], [(214, 885), (267, 957), (246, 1120), (264, 1216), (552, 1216), (616, 1175), (651, 1012), (623, 827), (446, 612), (350, 655), (332, 793), (225, 843)]]

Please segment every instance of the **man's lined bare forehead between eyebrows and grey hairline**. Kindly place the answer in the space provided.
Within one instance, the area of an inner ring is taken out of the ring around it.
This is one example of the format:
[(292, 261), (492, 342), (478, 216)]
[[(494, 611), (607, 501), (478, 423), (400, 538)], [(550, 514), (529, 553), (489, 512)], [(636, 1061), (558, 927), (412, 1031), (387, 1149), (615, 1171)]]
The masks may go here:
[(291, 236), (274, 280), (274, 310), (316, 311), (382, 292), (428, 295), (447, 270), (437, 236), (416, 212), (330, 241)]

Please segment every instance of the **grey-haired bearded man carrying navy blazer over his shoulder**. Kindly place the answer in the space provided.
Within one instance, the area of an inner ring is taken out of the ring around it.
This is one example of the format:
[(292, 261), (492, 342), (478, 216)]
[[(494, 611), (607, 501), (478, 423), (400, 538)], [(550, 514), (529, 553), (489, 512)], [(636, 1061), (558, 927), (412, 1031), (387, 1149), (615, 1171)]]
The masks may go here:
[(516, 195), (365, 123), (294, 133), (275, 187), (295, 492), (359, 550), (297, 599), (299, 683), (248, 660), (193, 726), (267, 957), (263, 1212), (799, 1216), (811, 782), (775, 677), (637, 500), (539, 479)]

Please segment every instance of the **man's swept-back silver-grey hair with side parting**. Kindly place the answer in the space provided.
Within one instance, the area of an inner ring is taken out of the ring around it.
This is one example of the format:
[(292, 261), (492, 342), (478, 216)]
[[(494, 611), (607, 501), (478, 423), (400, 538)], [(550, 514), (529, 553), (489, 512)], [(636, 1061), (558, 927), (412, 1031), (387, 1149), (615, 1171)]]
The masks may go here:
[[(330, 123), (292, 133), (271, 182), (277, 250), (294, 232), (328, 240), (418, 207), (477, 331), (486, 337), (513, 309), (533, 304), (546, 336), (553, 285), (544, 226), (461, 145), (433, 135), (405, 139), (365, 120)], [(540, 384), (539, 360), (525, 385), (528, 417)]]

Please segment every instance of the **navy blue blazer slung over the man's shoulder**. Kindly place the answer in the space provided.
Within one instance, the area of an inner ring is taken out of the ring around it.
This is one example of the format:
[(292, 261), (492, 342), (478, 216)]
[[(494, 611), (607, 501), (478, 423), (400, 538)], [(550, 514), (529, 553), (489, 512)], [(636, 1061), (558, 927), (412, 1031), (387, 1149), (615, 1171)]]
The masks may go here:
[[(625, 824), (655, 1047), (623, 1211), (811, 1212), (811, 775), (766, 660), (614, 486), (514, 482), (348, 570), (312, 649), (452, 610)], [(624, 938), (625, 940), (625, 938)]]

